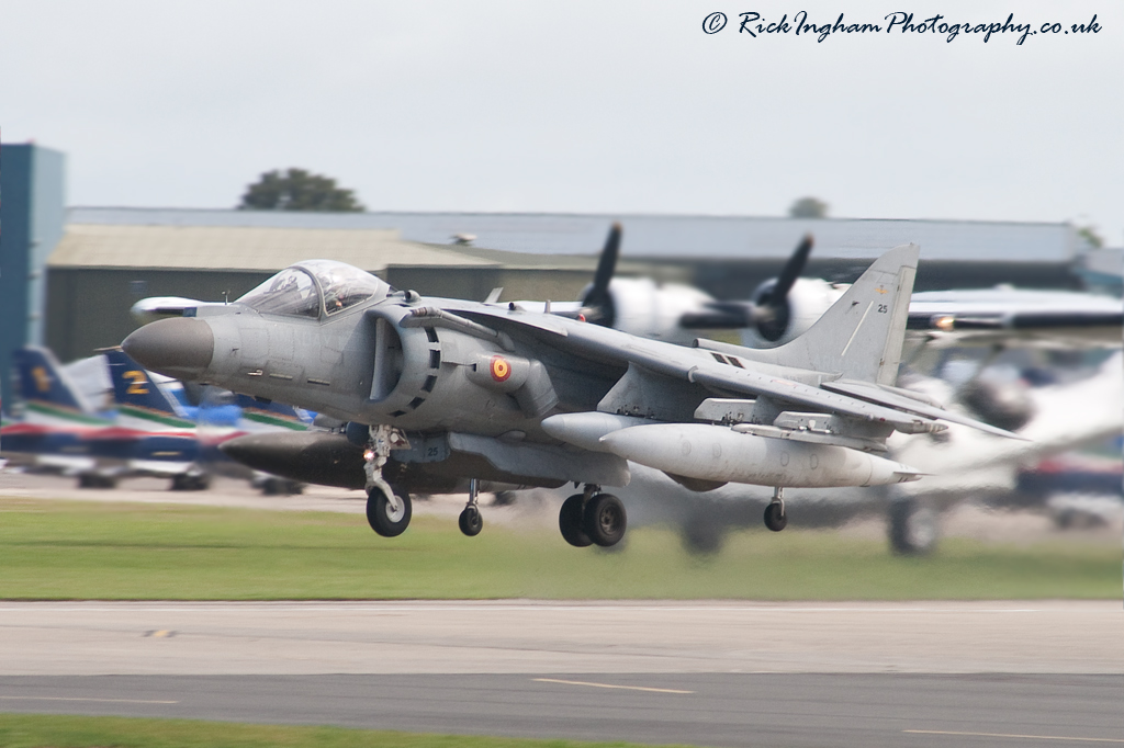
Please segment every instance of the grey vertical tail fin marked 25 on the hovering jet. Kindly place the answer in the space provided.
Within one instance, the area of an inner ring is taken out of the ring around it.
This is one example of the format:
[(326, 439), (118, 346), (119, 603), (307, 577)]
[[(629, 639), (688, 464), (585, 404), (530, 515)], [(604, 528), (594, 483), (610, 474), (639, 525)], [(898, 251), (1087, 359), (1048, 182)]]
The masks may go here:
[(778, 348), (747, 350), (744, 357), (894, 384), (919, 253), (915, 244), (890, 249), (807, 332)]

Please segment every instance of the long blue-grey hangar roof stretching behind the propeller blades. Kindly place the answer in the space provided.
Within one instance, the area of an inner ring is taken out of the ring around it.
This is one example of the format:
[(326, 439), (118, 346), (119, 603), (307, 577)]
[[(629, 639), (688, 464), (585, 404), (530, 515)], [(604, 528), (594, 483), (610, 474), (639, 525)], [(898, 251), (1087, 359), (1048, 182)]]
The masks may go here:
[[(72, 208), (74, 224), (212, 226), (277, 229), (399, 229), (406, 240), (448, 244), (457, 234), (475, 245), (527, 254), (591, 255), (613, 221), (624, 226), (625, 257), (773, 259), (813, 234), (816, 256), (870, 259), (914, 241), (922, 257), (954, 262), (1067, 263), (1078, 237), (1068, 224), (878, 219), (789, 219), (738, 216), (577, 213), (366, 212)], [(405, 264), (405, 263), (398, 263)]]

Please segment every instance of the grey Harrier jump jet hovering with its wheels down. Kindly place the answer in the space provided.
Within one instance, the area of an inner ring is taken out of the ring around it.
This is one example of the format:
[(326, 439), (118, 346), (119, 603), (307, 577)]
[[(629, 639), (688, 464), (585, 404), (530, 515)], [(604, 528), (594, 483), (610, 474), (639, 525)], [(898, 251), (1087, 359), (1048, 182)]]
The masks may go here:
[[(397, 536), (409, 491), (469, 478), (461, 514), (480, 531), (480, 480), (584, 491), (559, 523), (571, 545), (611, 546), (628, 460), (707, 491), (886, 485), (921, 473), (887, 459), (895, 431), (941, 421), (1014, 436), (896, 386), (918, 248), (880, 257), (810, 329), (764, 350), (685, 348), (516, 304), (423, 299), (357, 268), (298, 263), (237, 302), (187, 309), (123, 343), (162, 374), (350, 421), (363, 440), (368, 520)], [(1017, 437), (1016, 437), (1017, 438)]]

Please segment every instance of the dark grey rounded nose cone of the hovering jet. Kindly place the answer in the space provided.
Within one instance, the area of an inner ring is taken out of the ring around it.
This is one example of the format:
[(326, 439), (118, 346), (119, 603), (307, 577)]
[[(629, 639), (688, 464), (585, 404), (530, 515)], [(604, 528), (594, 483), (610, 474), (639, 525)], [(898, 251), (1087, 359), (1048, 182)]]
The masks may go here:
[(215, 335), (202, 320), (162, 319), (134, 331), (121, 343), (121, 348), (145, 368), (192, 380), (210, 366)]

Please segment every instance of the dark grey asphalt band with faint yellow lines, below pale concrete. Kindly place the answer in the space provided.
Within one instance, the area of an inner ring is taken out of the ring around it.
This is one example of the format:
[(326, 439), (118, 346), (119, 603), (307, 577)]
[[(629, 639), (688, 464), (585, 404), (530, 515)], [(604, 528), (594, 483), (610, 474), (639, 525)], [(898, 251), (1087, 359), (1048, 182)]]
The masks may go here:
[(0, 709), (705, 746), (1124, 744), (1124, 676), (0, 677)]

